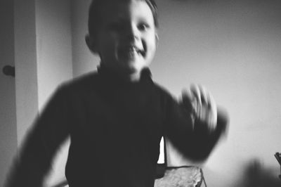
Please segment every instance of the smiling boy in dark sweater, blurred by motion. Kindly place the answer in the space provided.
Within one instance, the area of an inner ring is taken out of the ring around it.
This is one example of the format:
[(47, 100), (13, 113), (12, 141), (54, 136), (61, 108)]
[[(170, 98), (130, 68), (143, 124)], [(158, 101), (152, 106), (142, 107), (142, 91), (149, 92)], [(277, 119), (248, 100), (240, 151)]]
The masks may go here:
[(8, 186), (41, 186), (67, 136), (70, 187), (152, 187), (159, 141), (167, 136), (185, 155), (204, 160), (226, 121), (200, 86), (178, 104), (152, 82), (157, 47), (152, 0), (96, 0), (86, 44), (100, 56), (98, 72), (61, 86), (30, 131)]

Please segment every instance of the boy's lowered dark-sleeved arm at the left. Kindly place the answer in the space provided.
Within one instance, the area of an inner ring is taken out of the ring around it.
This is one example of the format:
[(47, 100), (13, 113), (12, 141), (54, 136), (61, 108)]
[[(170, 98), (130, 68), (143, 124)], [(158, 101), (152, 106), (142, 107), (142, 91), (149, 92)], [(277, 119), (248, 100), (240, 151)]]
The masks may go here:
[(67, 106), (57, 91), (27, 133), (8, 174), (6, 187), (39, 187), (51, 167), (56, 150), (67, 138)]

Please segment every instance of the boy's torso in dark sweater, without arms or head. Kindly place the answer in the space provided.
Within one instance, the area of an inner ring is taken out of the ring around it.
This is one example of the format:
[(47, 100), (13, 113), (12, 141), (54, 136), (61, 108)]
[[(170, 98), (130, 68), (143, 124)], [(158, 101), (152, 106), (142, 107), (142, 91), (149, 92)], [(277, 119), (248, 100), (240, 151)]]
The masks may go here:
[(153, 186), (166, 93), (150, 77), (124, 84), (93, 74), (67, 87), (70, 186)]

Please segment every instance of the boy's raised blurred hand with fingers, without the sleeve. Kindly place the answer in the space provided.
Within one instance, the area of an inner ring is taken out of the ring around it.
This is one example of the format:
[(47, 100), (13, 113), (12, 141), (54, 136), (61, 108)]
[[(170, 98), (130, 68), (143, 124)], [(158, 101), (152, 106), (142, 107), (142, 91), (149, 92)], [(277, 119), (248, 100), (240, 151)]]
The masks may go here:
[(190, 90), (182, 91), (182, 104), (185, 110), (192, 114), (194, 120), (207, 124), (207, 129), (212, 132), (216, 129), (217, 109), (211, 93), (203, 86), (192, 85)]

